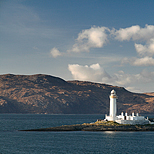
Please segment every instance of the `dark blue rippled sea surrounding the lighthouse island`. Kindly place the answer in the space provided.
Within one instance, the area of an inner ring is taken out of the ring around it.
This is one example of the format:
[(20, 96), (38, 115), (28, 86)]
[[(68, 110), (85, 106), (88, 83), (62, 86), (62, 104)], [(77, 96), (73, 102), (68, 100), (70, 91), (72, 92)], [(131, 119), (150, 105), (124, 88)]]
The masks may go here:
[(154, 132), (18, 131), (103, 118), (104, 115), (0, 114), (0, 154), (154, 154)]

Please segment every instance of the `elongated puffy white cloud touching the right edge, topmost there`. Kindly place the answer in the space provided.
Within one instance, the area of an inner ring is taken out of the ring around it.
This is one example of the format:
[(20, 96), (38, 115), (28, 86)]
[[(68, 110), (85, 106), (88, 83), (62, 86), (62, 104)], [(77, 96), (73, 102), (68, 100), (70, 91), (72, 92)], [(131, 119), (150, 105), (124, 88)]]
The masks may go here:
[(131, 26), (128, 28), (120, 28), (119, 30), (112, 31), (115, 35), (115, 39), (120, 41), (135, 40), (150, 40), (154, 38), (154, 26), (145, 25), (145, 28), (140, 28), (139, 25)]

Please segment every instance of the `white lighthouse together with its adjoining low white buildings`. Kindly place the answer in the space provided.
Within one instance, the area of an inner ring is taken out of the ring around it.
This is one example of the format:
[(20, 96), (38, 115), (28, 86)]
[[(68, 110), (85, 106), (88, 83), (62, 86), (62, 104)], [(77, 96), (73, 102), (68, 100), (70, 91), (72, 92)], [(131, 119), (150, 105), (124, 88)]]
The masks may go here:
[(150, 124), (150, 121), (148, 120), (148, 118), (146, 119), (144, 116), (139, 116), (138, 113), (136, 113), (136, 115), (134, 114), (134, 112), (132, 113), (132, 115), (127, 115), (127, 113), (121, 113), (121, 115), (116, 115), (117, 113), (117, 104), (116, 104), (116, 99), (118, 98), (118, 96), (116, 95), (115, 90), (111, 91), (111, 95), (110, 95), (110, 112), (109, 112), (109, 116), (105, 115), (105, 119), (106, 121), (115, 121), (119, 124), (131, 124), (131, 125), (136, 125), (136, 124)]

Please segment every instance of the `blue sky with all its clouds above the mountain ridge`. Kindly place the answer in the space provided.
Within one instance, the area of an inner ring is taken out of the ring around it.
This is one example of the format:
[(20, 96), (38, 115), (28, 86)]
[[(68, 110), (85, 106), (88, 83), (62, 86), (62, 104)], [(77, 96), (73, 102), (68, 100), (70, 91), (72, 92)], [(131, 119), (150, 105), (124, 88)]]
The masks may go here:
[(0, 75), (154, 92), (153, 8), (153, 0), (0, 0)]

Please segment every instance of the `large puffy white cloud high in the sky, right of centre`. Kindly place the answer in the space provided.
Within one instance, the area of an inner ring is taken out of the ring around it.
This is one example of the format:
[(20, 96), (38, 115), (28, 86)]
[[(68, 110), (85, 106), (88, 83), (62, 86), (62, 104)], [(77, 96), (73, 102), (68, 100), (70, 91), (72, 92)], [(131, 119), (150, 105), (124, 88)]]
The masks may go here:
[(110, 31), (107, 27), (92, 27), (90, 29), (83, 30), (78, 34), (76, 43), (73, 48), (68, 51), (72, 52), (89, 52), (90, 48), (101, 48), (107, 42), (106, 32)]

